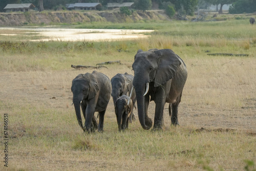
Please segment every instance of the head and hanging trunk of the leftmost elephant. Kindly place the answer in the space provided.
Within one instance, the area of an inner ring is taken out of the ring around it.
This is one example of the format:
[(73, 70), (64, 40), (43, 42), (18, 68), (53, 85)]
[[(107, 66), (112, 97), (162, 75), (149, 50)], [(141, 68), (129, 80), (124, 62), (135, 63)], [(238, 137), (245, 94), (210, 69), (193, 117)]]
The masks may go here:
[[(73, 93), (73, 103), (75, 107), (76, 117), (79, 125), (84, 130), (81, 119), (80, 103), (84, 100), (94, 98), (98, 92), (98, 82), (93, 74), (79, 74), (72, 81), (71, 91)], [(82, 106), (82, 110), (83, 106)], [(84, 111), (83, 111), (84, 113)]]

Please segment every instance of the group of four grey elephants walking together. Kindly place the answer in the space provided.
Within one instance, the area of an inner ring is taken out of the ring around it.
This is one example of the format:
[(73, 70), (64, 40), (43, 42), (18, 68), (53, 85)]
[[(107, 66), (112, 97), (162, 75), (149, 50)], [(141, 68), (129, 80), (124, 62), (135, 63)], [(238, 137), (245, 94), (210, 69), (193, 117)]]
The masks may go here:
[[(178, 125), (178, 105), (187, 78), (184, 61), (170, 49), (138, 50), (132, 65), (134, 76), (116, 74), (108, 76), (93, 71), (79, 74), (72, 81), (73, 104), (78, 123), (84, 132), (103, 131), (104, 115), (112, 96), (118, 130), (127, 129), (135, 120), (133, 109), (137, 101), (138, 118), (141, 126), (149, 130), (153, 121), (148, 117), (150, 101), (156, 104), (153, 130), (162, 129), (163, 110), (169, 103), (171, 122)], [(82, 123), (81, 111), (85, 119)], [(99, 113), (99, 123), (94, 113)]]

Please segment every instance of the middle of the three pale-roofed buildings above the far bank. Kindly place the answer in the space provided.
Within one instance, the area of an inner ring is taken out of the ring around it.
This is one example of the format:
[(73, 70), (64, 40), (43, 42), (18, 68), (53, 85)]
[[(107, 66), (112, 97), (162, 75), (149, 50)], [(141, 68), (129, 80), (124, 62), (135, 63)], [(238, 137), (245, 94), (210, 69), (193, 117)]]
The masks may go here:
[(75, 3), (66, 4), (66, 8), (69, 10), (98, 10), (102, 7), (100, 3)]

